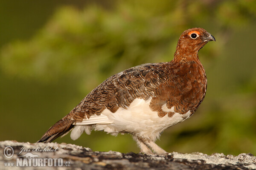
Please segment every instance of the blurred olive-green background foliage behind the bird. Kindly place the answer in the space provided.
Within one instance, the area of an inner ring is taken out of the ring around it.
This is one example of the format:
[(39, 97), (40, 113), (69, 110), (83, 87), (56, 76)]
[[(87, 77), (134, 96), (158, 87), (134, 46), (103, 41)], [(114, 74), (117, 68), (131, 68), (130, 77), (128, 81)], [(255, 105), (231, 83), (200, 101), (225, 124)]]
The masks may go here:
[[(102, 81), (172, 60), (180, 34), (202, 27), (216, 38), (199, 52), (206, 97), (157, 144), (168, 152), (256, 154), (255, 0), (2, 0), (0, 23), (1, 141), (36, 142)], [(55, 142), (139, 152), (128, 134)]]

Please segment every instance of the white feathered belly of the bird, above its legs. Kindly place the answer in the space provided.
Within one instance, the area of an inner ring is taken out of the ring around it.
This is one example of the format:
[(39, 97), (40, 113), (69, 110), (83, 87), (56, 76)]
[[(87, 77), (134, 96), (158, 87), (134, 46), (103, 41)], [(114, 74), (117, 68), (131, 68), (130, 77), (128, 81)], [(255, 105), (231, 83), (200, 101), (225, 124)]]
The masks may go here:
[[(112, 135), (134, 133), (137, 136), (143, 136), (155, 141), (163, 130), (190, 117), (190, 111), (185, 114), (175, 113), (172, 117), (168, 117), (168, 114), (159, 117), (156, 111), (151, 111), (149, 108), (151, 99), (149, 98), (146, 101), (144, 99), (134, 99), (127, 109), (119, 108), (115, 113), (106, 108), (100, 116), (91, 116), (91, 120), (85, 119), (83, 122), (75, 123), (79, 127), (75, 127), (73, 131), (74, 133), (83, 130), (88, 131), (88, 125), (94, 124), (95, 130), (104, 130)], [(174, 111), (174, 107), (168, 110), (166, 105), (163, 105), (162, 109), (163, 111)], [(81, 127), (80, 125), (85, 126)], [(79, 137), (77, 135), (80, 136), (81, 134), (73, 134), (73, 138), (77, 139)]]

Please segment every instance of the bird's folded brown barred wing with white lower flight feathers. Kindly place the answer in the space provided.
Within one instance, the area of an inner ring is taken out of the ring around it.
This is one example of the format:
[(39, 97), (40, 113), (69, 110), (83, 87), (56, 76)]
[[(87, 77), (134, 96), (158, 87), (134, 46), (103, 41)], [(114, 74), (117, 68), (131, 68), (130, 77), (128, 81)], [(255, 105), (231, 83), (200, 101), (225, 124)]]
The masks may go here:
[(106, 79), (91, 91), (65, 118), (73, 125), (112, 123), (102, 111), (127, 109), (134, 99), (156, 97), (156, 89), (167, 80), (168, 62), (138, 65)]

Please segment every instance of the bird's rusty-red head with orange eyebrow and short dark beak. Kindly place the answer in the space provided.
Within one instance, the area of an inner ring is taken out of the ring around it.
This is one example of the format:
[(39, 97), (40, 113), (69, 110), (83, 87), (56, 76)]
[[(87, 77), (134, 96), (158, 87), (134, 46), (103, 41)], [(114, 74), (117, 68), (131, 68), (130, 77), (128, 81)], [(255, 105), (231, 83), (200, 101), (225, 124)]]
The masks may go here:
[(180, 59), (193, 59), (193, 57), (198, 57), (198, 51), (209, 41), (215, 41), (215, 38), (205, 29), (187, 29), (180, 35), (175, 57)]

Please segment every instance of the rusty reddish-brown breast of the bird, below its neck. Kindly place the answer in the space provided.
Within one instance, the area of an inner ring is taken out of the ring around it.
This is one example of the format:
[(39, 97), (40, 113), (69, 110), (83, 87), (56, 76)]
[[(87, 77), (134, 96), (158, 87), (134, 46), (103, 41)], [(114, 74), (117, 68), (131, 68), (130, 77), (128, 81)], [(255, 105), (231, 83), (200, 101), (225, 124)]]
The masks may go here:
[(184, 62), (172, 66), (173, 74), (156, 90), (158, 95), (150, 105), (160, 117), (172, 117), (175, 113), (186, 114), (188, 111), (193, 114), (206, 93), (207, 78), (200, 62)]

